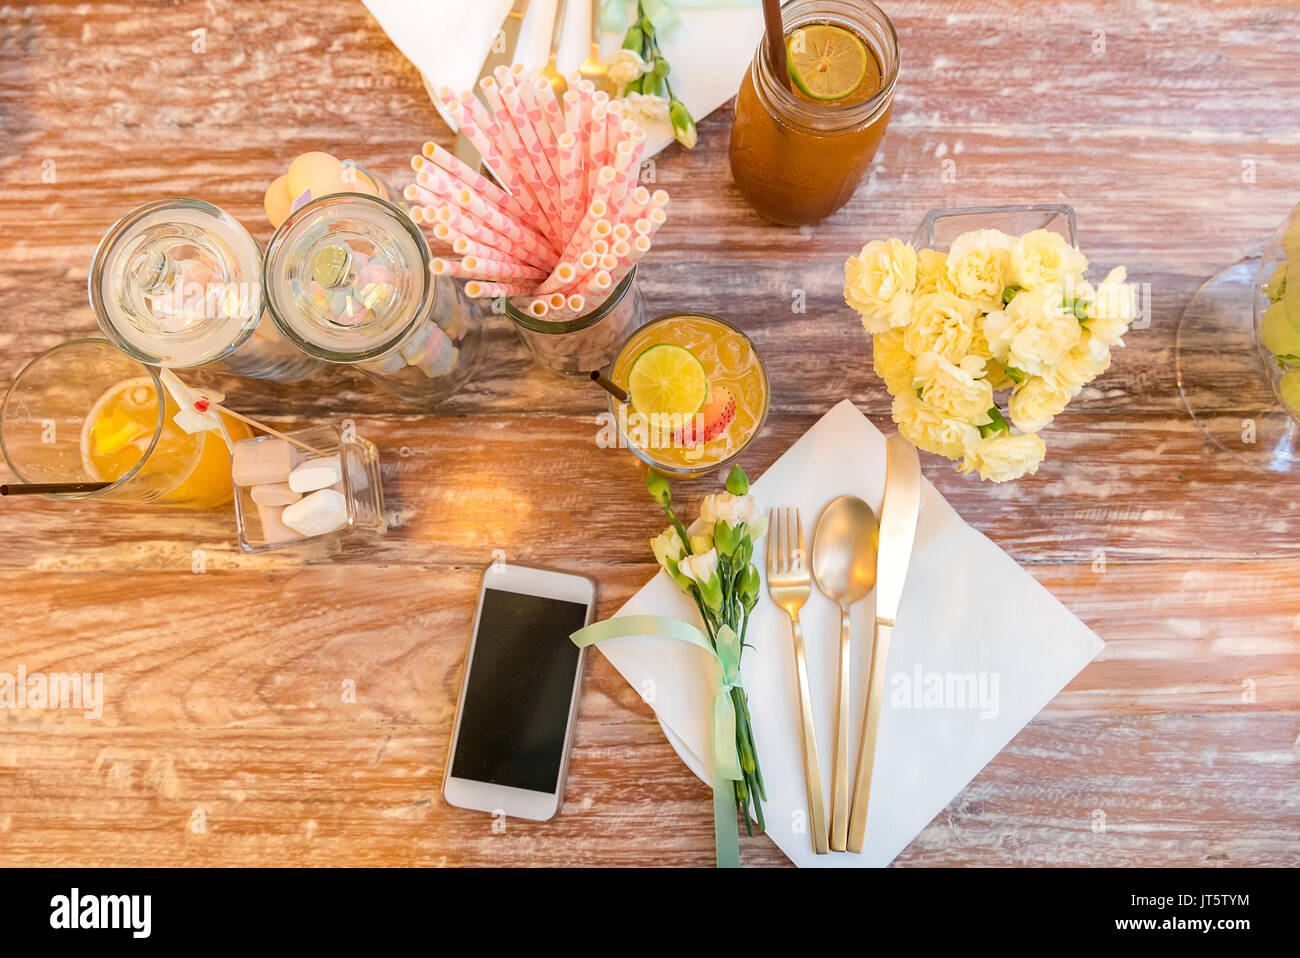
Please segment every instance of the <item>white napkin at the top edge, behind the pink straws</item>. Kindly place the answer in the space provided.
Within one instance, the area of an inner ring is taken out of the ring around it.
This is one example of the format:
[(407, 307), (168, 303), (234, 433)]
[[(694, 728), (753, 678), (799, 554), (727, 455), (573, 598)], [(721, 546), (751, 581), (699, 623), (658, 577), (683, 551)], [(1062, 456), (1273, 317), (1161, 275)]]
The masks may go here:
[[(471, 90), (491, 38), (514, 0), (361, 0), (384, 27), (394, 45), (437, 90)], [(568, 75), (590, 52), (592, 3), (569, 0), (564, 8), (558, 66)], [(551, 26), (556, 0), (532, 0), (519, 31), (514, 60), (529, 70), (546, 65), (551, 49)], [(659, 47), (672, 66), (672, 88), (699, 122), (736, 95), (741, 77), (754, 58), (763, 36), (763, 10), (754, 1), (744, 9), (693, 9), (677, 6), (681, 26), (659, 38)], [(623, 45), (623, 34), (603, 34), (601, 52), (606, 56)], [(441, 103), (438, 113), (451, 123)], [(672, 142), (667, 121), (646, 130), (646, 156), (654, 156)]]

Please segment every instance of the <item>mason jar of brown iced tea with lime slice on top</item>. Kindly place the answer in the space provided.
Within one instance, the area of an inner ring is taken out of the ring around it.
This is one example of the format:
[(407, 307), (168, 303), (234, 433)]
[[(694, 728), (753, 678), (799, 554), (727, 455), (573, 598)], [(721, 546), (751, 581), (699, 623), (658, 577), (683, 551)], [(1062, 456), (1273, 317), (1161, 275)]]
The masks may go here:
[(803, 226), (849, 201), (885, 135), (898, 35), (870, 0), (793, 0), (781, 16), (788, 75), (760, 42), (736, 96), (731, 166), (763, 217)]

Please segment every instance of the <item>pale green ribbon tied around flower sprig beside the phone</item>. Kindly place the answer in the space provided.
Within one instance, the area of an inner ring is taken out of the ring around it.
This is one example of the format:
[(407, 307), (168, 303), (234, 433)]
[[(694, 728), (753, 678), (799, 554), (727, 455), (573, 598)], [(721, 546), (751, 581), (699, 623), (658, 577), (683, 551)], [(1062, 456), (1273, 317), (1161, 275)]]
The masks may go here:
[(629, 636), (662, 636), (698, 646), (714, 658), (712, 703), (712, 785), (714, 785), (714, 848), (719, 868), (740, 866), (740, 838), (736, 829), (736, 790), (731, 784), (740, 781), (740, 754), (736, 751), (736, 706), (731, 690), (740, 688), (741, 641), (729, 627), (718, 630), (716, 649), (708, 638), (689, 623), (662, 615), (625, 615), (578, 629), (569, 638), (578, 649), (585, 649), (610, 638)]

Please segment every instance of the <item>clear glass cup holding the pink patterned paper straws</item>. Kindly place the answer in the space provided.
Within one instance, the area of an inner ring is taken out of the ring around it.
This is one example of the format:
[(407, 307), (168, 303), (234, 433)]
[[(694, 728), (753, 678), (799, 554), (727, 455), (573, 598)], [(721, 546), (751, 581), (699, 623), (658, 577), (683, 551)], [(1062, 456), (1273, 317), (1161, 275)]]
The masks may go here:
[(604, 369), (624, 341), (646, 321), (636, 266), (601, 305), (564, 322), (540, 320), (516, 309), (508, 299), (504, 303), (506, 316), (533, 359), (560, 376), (588, 376)]

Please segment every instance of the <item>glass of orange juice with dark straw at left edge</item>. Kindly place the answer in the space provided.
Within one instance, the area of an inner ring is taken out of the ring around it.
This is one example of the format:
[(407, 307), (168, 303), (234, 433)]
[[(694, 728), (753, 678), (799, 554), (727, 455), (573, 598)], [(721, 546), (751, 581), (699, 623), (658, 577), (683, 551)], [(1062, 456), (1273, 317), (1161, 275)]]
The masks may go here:
[[(46, 350), (0, 406), (0, 450), (23, 482), (107, 482), (51, 498), (214, 508), (230, 502), (230, 451), (214, 432), (186, 433), (157, 370), (107, 339)], [(222, 416), (233, 441), (252, 433)]]

